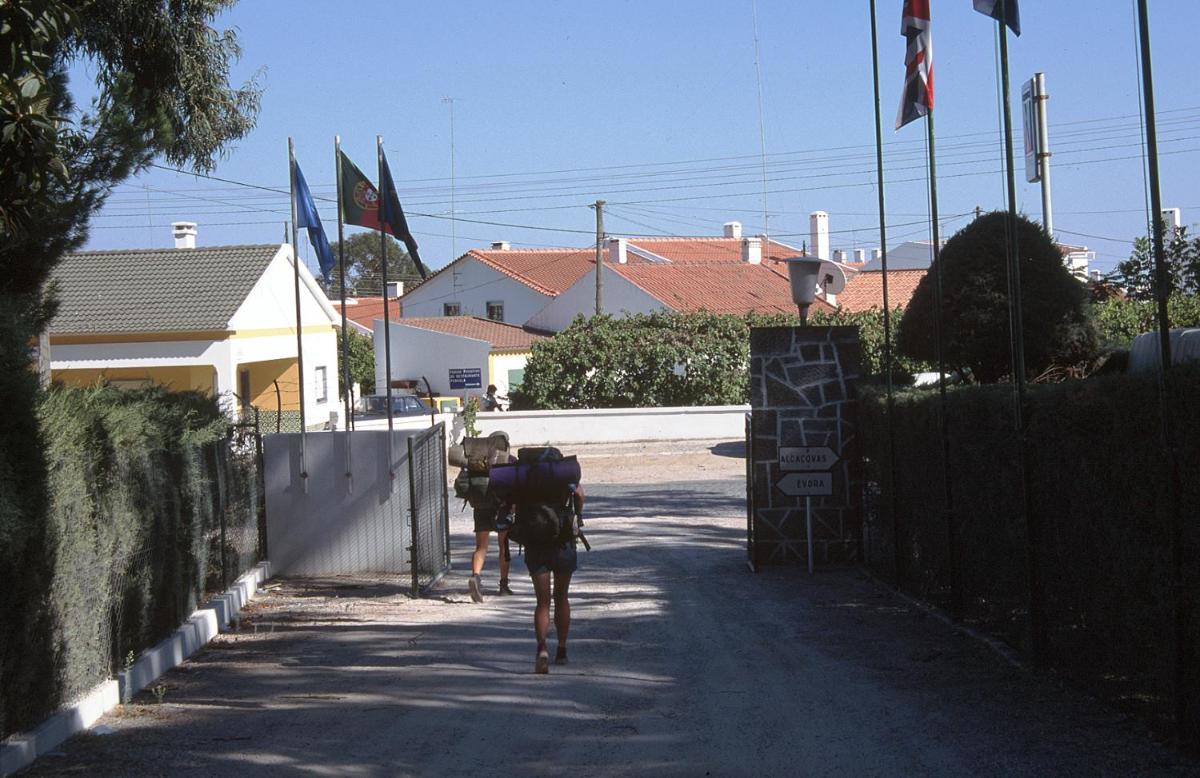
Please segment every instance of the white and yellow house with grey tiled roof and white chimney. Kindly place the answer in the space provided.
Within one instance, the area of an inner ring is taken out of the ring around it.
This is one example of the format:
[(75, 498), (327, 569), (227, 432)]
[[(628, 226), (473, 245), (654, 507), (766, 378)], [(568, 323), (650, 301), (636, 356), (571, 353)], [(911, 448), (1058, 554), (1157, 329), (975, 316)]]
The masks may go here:
[[(52, 274), (50, 377), (74, 385), (161, 384), (239, 406), (299, 411), (294, 255), (287, 244), (196, 247), (176, 225), (175, 249), (84, 251)], [(341, 409), (334, 312), (300, 267), (306, 423)]]

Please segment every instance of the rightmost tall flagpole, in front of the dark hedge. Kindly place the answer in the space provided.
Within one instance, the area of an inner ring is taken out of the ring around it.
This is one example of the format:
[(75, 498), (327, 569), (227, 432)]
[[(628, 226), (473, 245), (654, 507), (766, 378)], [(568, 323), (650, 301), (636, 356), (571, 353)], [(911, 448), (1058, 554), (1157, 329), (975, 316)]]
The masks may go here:
[[(1163, 448), (1166, 459), (1168, 504), (1171, 511), (1171, 577), (1175, 599), (1175, 730), (1188, 747), (1200, 747), (1200, 670), (1196, 670), (1196, 646), (1190, 638), (1189, 602), (1183, 577), (1183, 510), (1178, 451), (1171, 424), (1171, 397), (1166, 373), (1171, 365), (1170, 319), (1166, 301), (1171, 293), (1164, 255), (1163, 197), (1158, 180), (1158, 126), (1154, 118), (1154, 76), (1150, 56), (1150, 12), (1146, 0), (1138, 0), (1138, 29), (1141, 43), (1142, 100), (1146, 114), (1146, 164), (1150, 179), (1150, 215), (1154, 247), (1154, 298), (1158, 303), (1158, 399)], [(1192, 603), (1196, 602), (1195, 596)]]

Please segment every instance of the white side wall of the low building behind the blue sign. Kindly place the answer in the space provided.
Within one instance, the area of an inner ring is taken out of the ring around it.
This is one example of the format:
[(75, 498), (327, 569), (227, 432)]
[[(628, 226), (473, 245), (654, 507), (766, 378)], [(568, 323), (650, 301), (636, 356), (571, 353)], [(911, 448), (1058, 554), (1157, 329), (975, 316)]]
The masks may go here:
[[(462, 395), (464, 393), (482, 394), (487, 385), (487, 354), (491, 345), (487, 341), (434, 333), (419, 327), (391, 323), (391, 377), (430, 379), (433, 394)], [(386, 391), (384, 378), (384, 337), (383, 319), (374, 322), (376, 353), (376, 394)], [(451, 389), (451, 367), (478, 367), (480, 389)]]

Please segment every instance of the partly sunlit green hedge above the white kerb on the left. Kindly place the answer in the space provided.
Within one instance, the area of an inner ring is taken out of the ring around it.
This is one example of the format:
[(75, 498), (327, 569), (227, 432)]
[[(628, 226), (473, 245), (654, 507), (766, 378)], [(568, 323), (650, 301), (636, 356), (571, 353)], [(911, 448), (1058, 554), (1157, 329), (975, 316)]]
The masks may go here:
[(41, 484), (5, 478), (0, 495), (0, 528), (31, 540), (0, 559), (0, 736), (112, 677), (257, 552), (256, 451), (210, 397), (56, 388), (37, 421), (0, 457), (0, 477), (47, 462)]

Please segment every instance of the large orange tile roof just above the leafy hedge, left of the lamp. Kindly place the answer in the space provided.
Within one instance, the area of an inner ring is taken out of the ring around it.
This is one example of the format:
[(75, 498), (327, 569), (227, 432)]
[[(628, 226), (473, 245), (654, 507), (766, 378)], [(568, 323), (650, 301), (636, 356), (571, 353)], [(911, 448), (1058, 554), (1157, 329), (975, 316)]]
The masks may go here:
[[(786, 273), (762, 264), (712, 262), (610, 265), (676, 311), (794, 313)], [(824, 300), (814, 311), (830, 311)]]

